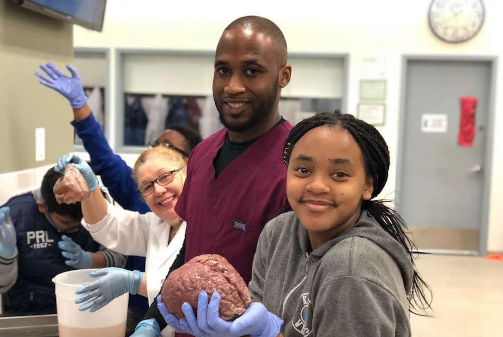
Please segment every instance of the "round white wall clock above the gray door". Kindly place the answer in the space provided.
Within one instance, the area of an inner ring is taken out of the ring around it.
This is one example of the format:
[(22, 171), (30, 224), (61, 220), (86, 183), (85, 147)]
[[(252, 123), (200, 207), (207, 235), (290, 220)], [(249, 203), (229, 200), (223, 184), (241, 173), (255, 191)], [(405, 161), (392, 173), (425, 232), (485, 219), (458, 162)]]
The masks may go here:
[(446, 42), (464, 42), (484, 23), (481, 0), (433, 0), (428, 13), (432, 31)]

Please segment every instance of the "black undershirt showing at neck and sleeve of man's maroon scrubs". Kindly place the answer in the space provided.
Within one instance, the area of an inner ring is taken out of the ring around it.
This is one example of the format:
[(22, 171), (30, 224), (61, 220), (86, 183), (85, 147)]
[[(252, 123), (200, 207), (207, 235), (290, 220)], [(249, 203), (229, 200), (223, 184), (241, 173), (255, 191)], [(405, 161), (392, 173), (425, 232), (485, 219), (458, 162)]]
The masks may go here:
[[(280, 119), (278, 123), (273, 127), (277, 127), (278, 125), (284, 123), (285, 120), (283, 117)], [(260, 137), (259, 137), (260, 138)], [(253, 142), (255, 142), (257, 139), (252, 139), (250, 141), (244, 142), (244, 143), (235, 143), (231, 142), (229, 139), (229, 134), (227, 133), (225, 135), (225, 142), (223, 143), (222, 147), (220, 150), (218, 150), (218, 153), (213, 160), (213, 167), (215, 168), (215, 179), (218, 177), (218, 175), (223, 171), (223, 169), (229, 165), (234, 159), (239, 157)], [(184, 244), (182, 246), (182, 249), (180, 249), (180, 253), (178, 253), (177, 258), (173, 262), (173, 265), (170, 268), (170, 271), (167, 272), (166, 278), (175, 270), (180, 267), (182, 267), (185, 263), (185, 240)], [(161, 293), (162, 289), (159, 291), (159, 294)], [(164, 320), (164, 317), (159, 312), (159, 309), (157, 309), (157, 300), (154, 299), (152, 304), (150, 304), (150, 307), (148, 308), (147, 312), (143, 316), (143, 319), (150, 319), (150, 318), (155, 318), (157, 321), (157, 324), (159, 324), (160, 330), (162, 331), (166, 326), (166, 321)]]

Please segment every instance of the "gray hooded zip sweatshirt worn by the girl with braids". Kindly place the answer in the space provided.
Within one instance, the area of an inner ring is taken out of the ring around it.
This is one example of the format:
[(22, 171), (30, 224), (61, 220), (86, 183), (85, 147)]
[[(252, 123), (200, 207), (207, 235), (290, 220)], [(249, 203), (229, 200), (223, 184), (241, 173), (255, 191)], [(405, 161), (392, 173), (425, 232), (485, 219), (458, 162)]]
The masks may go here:
[(410, 336), (413, 271), (407, 252), (367, 211), (313, 252), (288, 212), (266, 224), (249, 289), (285, 321), (286, 337)]

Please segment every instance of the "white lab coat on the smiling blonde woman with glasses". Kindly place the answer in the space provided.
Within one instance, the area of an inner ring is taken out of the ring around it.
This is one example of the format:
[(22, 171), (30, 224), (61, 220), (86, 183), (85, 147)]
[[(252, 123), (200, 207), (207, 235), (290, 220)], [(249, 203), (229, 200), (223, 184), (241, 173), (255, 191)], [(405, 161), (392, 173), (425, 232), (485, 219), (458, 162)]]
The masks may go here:
[[(168, 245), (171, 225), (153, 212), (140, 214), (119, 209), (108, 203), (107, 215), (95, 224), (89, 224), (82, 218), (82, 226), (89, 231), (93, 239), (108, 249), (125, 255), (145, 256), (147, 273), (148, 304), (159, 293), (164, 278), (183, 246), (186, 222)], [(166, 327), (162, 337), (174, 336), (174, 330)]]

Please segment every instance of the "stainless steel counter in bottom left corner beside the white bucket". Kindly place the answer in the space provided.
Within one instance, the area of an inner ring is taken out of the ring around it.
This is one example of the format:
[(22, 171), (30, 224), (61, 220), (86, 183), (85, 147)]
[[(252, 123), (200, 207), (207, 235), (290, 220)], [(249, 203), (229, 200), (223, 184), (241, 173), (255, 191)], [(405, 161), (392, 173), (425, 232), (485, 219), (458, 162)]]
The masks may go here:
[(0, 337), (57, 337), (57, 315), (0, 317)]

